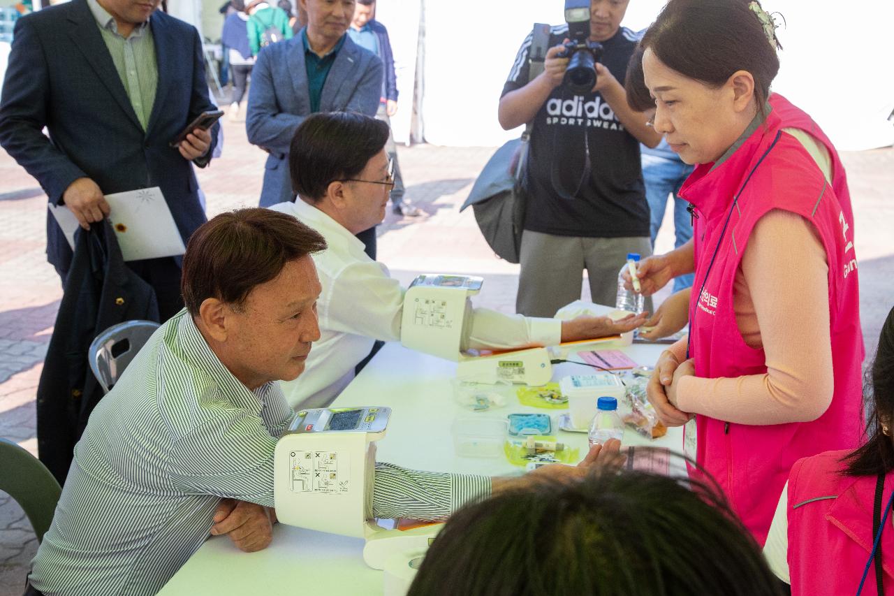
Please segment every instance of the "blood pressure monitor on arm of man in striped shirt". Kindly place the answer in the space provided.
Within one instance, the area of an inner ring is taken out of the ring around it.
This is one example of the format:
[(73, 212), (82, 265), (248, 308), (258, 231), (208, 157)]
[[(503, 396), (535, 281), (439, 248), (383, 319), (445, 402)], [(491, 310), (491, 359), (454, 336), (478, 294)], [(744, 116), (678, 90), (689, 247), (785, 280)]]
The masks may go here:
[(441, 529), (385, 530), (373, 520), (375, 441), (390, 417), (388, 407), (302, 410), (274, 452), (277, 519), (366, 539), (363, 558), (375, 569), (395, 554), (424, 552)]

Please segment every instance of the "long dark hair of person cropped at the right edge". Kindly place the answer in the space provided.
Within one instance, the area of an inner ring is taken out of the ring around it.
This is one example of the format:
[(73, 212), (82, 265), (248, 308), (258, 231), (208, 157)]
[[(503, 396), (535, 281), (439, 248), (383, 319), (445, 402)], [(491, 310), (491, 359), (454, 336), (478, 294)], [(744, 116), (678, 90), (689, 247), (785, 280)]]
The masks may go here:
[[(894, 470), (894, 438), (881, 431), (881, 419), (894, 428), (894, 309), (881, 326), (879, 347), (872, 367), (866, 370), (864, 404), (869, 409), (866, 421), (866, 442), (845, 456), (846, 474), (874, 476)], [(889, 430), (890, 431), (890, 430)]]

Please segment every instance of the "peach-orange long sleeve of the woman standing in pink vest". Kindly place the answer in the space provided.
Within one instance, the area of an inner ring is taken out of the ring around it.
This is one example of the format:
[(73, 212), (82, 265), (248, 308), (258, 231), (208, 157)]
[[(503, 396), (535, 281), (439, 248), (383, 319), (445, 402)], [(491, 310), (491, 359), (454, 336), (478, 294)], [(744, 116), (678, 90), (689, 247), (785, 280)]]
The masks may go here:
[[(740, 424), (812, 421), (831, 404), (829, 267), (814, 227), (773, 210), (758, 220), (736, 272), (733, 309), (747, 345), (763, 347), (767, 372), (683, 377), (677, 407)], [(686, 339), (671, 346), (679, 362)]]

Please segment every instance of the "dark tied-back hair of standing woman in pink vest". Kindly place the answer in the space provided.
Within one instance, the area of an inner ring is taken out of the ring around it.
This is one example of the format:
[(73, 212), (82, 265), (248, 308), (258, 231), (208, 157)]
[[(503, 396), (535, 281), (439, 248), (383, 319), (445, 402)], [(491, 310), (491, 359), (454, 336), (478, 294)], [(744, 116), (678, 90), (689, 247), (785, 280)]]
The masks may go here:
[(645, 32), (640, 45), (669, 68), (720, 87), (737, 71), (755, 78), (759, 113), (780, 70), (776, 47), (750, 8), (754, 0), (671, 0)]

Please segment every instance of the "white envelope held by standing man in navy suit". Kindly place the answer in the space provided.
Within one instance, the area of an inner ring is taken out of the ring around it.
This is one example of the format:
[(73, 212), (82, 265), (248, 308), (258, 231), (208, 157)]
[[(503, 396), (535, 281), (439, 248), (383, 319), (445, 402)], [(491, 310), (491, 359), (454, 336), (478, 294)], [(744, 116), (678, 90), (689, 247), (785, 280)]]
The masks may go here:
[[(111, 208), (109, 223), (118, 237), (124, 260), (173, 257), (186, 251), (171, 209), (157, 186), (107, 194), (105, 200)], [(77, 218), (67, 207), (49, 208), (73, 250)]]

